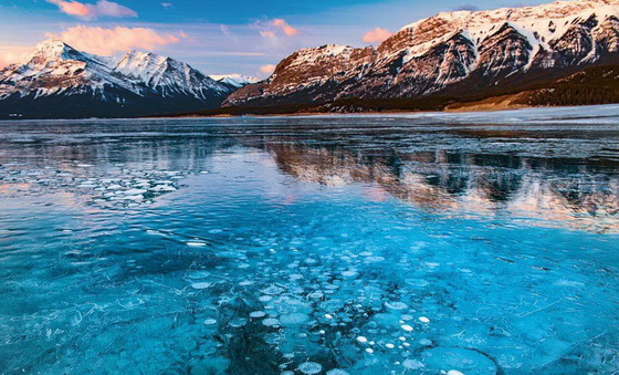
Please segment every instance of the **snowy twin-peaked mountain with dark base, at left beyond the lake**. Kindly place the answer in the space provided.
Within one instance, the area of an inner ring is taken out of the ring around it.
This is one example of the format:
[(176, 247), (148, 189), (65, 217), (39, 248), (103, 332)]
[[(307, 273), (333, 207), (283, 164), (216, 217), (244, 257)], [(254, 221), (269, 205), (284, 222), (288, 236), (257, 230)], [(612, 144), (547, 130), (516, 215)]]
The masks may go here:
[(60, 40), (0, 71), (0, 117), (127, 116), (217, 107), (233, 91), (170, 58), (103, 58)]

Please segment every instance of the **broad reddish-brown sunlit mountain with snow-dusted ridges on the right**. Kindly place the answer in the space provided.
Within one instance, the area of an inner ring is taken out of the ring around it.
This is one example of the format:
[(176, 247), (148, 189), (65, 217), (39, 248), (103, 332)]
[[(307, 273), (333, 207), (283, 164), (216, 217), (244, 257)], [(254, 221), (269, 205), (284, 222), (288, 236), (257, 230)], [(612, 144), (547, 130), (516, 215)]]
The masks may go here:
[(487, 96), (618, 62), (619, 0), (444, 12), (403, 27), (376, 48), (297, 51), (224, 105)]

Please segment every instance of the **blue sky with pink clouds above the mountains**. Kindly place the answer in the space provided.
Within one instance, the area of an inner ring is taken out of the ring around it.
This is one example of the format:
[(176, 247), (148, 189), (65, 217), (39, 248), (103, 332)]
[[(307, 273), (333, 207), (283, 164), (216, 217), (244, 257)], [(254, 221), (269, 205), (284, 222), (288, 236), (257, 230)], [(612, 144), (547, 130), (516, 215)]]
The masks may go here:
[(0, 0), (0, 66), (40, 41), (117, 55), (153, 51), (206, 74), (266, 77), (292, 52), (376, 45), (442, 11), (534, 6), (544, 0)]

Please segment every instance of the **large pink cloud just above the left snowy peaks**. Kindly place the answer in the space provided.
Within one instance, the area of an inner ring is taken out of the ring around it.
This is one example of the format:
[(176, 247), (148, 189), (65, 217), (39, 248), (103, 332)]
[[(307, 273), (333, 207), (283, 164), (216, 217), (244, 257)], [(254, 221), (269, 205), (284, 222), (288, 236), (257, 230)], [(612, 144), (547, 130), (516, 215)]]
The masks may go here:
[(180, 32), (177, 37), (171, 33), (161, 34), (147, 28), (107, 29), (76, 25), (59, 34), (48, 33), (46, 35), (57, 38), (81, 51), (111, 55), (133, 49), (156, 50), (159, 46), (180, 42), (185, 33)]

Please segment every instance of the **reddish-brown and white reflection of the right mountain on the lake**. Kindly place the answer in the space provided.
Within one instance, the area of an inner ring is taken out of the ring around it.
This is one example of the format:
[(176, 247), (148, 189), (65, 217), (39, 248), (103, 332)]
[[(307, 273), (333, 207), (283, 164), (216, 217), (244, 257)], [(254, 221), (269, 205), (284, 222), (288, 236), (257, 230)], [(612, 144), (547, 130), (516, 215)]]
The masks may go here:
[(379, 199), (385, 191), (439, 212), (507, 213), (544, 225), (619, 230), (619, 177), (597, 166), (445, 150), (365, 156), (297, 144), (264, 147), (283, 171), (302, 181), (376, 185)]

